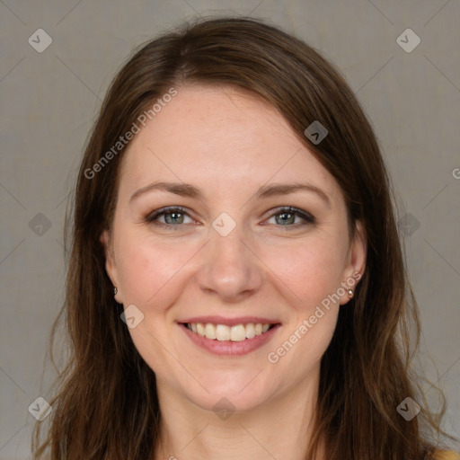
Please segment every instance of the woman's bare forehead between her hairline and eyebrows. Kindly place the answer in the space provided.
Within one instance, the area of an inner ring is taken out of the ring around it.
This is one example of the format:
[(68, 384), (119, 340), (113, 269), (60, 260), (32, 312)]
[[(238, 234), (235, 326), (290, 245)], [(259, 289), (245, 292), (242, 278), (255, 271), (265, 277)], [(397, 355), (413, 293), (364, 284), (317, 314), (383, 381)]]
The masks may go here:
[(232, 87), (178, 88), (125, 155), (120, 187), (130, 190), (157, 180), (216, 191), (310, 181), (331, 195), (340, 193), (332, 175), (276, 109)]

